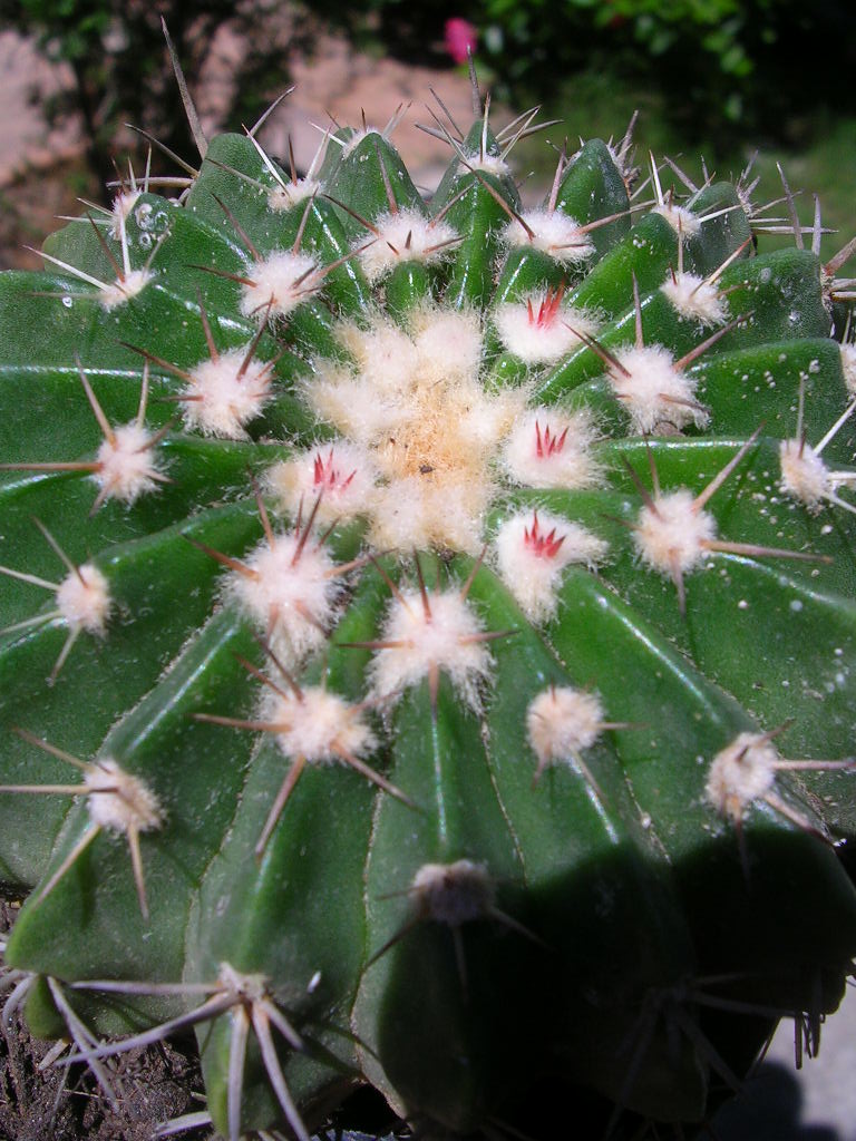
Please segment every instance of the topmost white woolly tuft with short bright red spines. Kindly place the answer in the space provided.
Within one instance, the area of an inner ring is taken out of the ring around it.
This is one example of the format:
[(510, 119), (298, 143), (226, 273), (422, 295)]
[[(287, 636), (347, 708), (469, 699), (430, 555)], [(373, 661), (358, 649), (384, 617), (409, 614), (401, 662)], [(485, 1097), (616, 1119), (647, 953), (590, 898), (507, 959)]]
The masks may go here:
[(501, 305), (493, 321), (508, 351), (526, 364), (567, 356), (582, 343), (578, 332), (593, 337), (598, 327), (583, 309), (562, 306), (560, 296), (551, 290), (533, 293), (526, 302)]

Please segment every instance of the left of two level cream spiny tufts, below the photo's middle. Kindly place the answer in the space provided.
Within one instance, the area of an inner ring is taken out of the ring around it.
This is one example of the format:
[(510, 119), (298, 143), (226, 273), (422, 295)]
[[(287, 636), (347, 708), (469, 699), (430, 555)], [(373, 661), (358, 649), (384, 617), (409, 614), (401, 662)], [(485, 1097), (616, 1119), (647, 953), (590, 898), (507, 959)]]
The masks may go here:
[(378, 744), (362, 711), (321, 686), (302, 689), (300, 697), (266, 693), (261, 717), (281, 727), (276, 744), (282, 752), (309, 764), (329, 764), (344, 754), (363, 756)]

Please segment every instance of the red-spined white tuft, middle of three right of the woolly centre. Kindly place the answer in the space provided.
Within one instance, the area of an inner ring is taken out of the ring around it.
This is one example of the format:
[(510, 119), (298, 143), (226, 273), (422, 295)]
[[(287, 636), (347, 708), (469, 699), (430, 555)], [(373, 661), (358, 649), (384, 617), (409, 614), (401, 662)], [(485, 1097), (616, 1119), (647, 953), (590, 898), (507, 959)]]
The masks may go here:
[(590, 452), (595, 439), (588, 410), (539, 406), (509, 432), (503, 460), (511, 478), (528, 487), (590, 487), (600, 477)]

